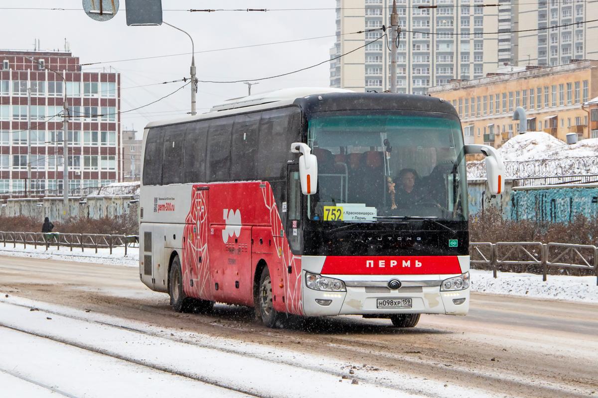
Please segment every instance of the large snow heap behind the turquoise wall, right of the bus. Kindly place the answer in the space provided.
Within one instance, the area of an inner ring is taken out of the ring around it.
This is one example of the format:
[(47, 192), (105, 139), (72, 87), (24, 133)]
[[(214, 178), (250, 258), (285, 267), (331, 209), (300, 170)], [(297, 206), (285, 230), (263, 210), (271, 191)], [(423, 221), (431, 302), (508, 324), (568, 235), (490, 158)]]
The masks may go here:
[[(568, 145), (552, 135), (531, 131), (515, 135), (498, 149), (507, 178), (598, 174), (598, 138)], [(484, 161), (468, 162), (469, 179), (485, 178)]]

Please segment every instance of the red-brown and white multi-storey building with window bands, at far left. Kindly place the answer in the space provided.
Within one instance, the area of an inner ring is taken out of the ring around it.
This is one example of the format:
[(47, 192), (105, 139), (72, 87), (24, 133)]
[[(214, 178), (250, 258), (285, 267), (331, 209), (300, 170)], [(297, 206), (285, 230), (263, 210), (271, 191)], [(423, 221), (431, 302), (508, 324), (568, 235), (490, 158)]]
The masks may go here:
[(62, 194), (65, 90), (68, 189), (122, 180), (120, 74), (82, 72), (69, 52), (0, 51), (1, 196)]

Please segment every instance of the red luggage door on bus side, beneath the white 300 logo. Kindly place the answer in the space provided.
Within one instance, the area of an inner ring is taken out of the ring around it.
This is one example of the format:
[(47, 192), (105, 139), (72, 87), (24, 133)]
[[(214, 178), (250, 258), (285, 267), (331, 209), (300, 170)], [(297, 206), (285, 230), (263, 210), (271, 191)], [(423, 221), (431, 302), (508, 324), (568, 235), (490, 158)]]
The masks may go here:
[(209, 250), (213, 300), (251, 306), (251, 227), (210, 225)]

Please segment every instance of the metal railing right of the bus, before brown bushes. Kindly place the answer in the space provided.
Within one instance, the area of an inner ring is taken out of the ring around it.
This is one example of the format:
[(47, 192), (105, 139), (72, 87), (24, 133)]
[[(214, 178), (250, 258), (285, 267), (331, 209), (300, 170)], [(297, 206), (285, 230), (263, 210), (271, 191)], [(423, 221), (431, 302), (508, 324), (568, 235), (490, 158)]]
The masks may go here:
[(548, 267), (594, 271), (598, 285), (598, 247), (572, 243), (541, 242), (472, 242), (469, 243), (471, 264), (492, 269), (496, 277), (500, 265), (541, 266), (542, 280), (547, 280)]

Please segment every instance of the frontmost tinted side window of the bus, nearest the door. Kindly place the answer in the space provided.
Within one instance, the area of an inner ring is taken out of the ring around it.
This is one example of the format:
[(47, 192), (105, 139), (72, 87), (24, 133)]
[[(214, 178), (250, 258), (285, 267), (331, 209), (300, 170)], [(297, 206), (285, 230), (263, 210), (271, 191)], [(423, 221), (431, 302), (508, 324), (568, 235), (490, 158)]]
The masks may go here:
[(300, 132), (298, 114), (297, 108), (273, 109), (262, 113), (258, 178), (282, 178), (286, 174), (291, 142), (299, 138), (291, 135), (291, 131)]

